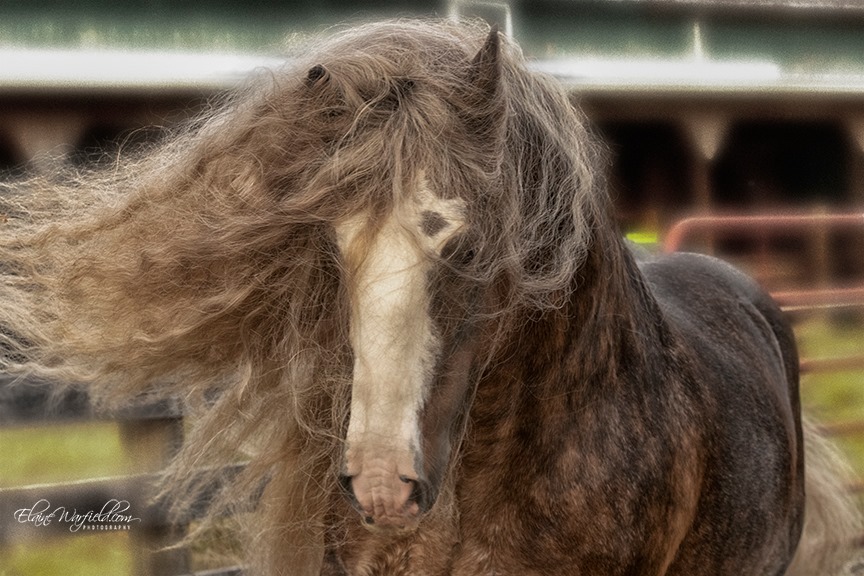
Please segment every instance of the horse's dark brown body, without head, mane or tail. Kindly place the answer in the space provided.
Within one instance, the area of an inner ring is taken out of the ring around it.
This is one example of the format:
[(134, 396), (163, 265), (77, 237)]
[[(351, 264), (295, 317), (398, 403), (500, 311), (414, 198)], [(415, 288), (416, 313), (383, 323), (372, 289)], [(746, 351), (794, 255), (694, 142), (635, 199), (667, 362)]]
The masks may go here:
[(720, 261), (637, 268), (603, 240), (598, 273), (525, 318), (479, 383), (458, 526), (349, 528), (325, 574), (785, 573), (804, 509), (788, 326)]

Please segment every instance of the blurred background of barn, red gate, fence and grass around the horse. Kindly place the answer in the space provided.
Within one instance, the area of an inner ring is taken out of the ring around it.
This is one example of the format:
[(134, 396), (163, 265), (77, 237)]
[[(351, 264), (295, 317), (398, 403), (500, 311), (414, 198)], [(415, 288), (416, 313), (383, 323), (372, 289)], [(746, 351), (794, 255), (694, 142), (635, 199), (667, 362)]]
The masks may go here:
[[(606, 140), (631, 240), (722, 256), (772, 291), (795, 322), (807, 410), (861, 494), (864, 3), (3, 0), (0, 178), (58, 157), (114, 162), (310, 35), (393, 16), (498, 23)], [(172, 406), (97, 415), (80, 396), (51, 403), (38, 383), (0, 383), (0, 576), (230, 565), (230, 527), (211, 546), (157, 551), (187, 530), (146, 499), (182, 433)], [(128, 499), (141, 522), (70, 535), (15, 520), (43, 498), (79, 510)]]

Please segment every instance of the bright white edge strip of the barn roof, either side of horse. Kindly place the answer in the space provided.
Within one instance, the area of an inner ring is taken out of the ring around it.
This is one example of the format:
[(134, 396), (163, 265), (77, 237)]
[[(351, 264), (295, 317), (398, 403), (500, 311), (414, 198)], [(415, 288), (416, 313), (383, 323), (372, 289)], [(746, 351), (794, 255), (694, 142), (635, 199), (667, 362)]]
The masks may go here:
[[(286, 60), (266, 55), (0, 47), (0, 92), (214, 91)], [(864, 95), (864, 73), (787, 73), (769, 61), (579, 57), (534, 60), (577, 92)]]

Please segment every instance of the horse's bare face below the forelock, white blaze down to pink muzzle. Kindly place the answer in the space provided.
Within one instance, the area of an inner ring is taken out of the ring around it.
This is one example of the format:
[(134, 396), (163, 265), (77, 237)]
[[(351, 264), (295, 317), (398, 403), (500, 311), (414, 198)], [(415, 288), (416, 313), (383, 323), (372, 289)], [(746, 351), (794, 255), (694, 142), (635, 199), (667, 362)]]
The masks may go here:
[(432, 506), (470, 388), (476, 290), (454, 281), (464, 203), (422, 174), (412, 188), (380, 225), (336, 226), (354, 353), (343, 485), (375, 529), (413, 528)]

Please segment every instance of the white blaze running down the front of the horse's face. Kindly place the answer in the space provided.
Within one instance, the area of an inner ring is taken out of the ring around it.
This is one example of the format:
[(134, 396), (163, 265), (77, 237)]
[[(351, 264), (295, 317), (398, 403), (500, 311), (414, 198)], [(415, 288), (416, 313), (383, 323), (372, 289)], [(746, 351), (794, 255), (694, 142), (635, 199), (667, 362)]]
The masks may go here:
[[(418, 415), (439, 349), (429, 317), (430, 253), (439, 253), (462, 227), (462, 206), (460, 200), (435, 197), (421, 178), (410, 198), (394, 208), (371, 238), (364, 236), (366, 214), (337, 226), (339, 249), (353, 272), (354, 375), (346, 472), (355, 481), (361, 475), (364, 480), (386, 477), (383, 483), (400, 476), (417, 478)], [(436, 226), (424, 228), (430, 213)], [(364, 496), (357, 494), (365, 505)], [(387, 503), (384, 507), (390, 508)]]

